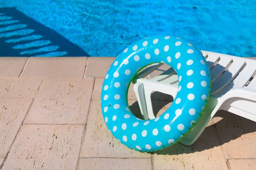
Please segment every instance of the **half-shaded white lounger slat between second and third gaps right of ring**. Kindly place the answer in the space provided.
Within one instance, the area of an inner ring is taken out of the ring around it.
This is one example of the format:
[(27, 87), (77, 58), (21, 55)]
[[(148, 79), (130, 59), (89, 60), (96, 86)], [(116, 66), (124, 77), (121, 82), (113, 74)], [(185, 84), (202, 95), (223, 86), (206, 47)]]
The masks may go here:
[(237, 76), (237, 74), (244, 65), (245, 61), (233, 59), (233, 63), (230, 65), (227, 71), (220, 78), (218, 78), (216, 82), (212, 84), (211, 93), (218, 93), (218, 91), (220, 91), (222, 87), (225, 87), (227, 83), (233, 81), (233, 79)]

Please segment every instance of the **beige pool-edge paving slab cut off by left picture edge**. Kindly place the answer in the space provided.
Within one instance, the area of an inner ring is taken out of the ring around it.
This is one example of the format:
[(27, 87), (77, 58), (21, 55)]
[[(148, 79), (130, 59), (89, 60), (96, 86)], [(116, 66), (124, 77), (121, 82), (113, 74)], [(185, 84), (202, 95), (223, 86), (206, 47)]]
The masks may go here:
[(28, 57), (0, 57), (0, 77), (19, 77)]

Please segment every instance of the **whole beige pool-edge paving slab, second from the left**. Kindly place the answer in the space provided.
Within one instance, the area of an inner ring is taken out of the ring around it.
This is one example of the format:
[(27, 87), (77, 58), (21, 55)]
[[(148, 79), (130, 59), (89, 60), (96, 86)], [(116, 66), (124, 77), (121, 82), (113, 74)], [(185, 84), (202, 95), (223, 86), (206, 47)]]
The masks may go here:
[(87, 57), (29, 57), (21, 77), (83, 77)]

